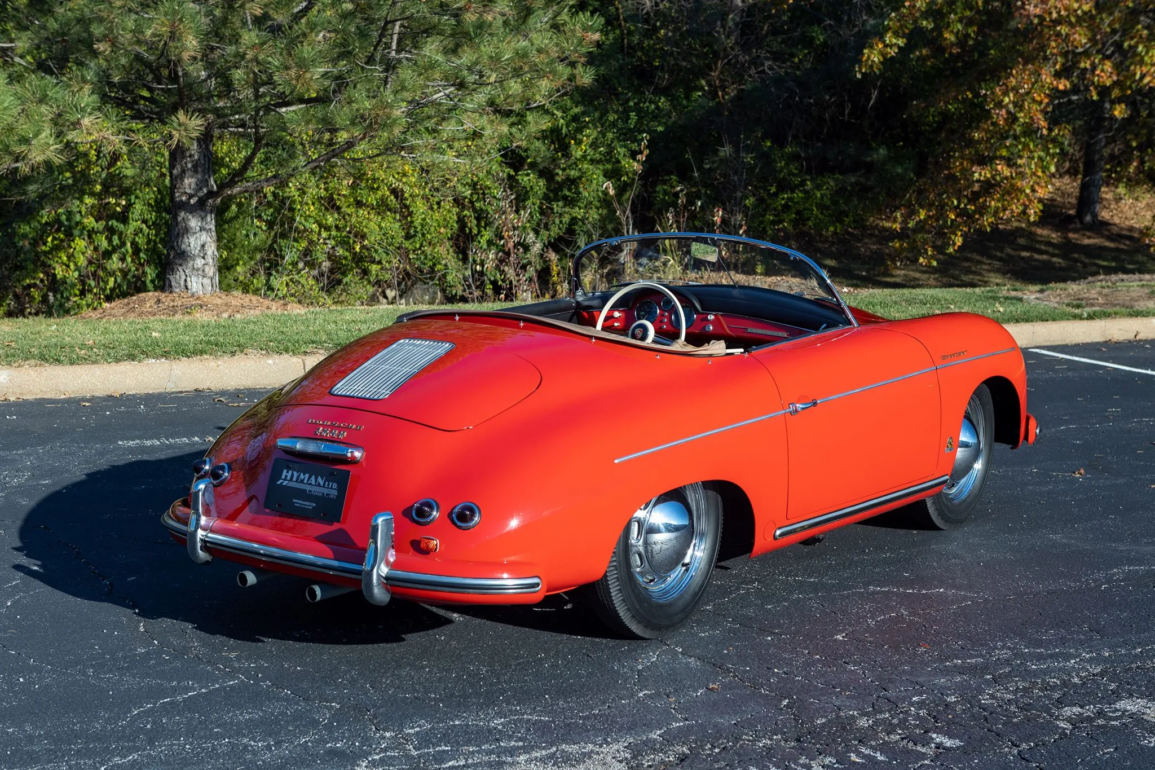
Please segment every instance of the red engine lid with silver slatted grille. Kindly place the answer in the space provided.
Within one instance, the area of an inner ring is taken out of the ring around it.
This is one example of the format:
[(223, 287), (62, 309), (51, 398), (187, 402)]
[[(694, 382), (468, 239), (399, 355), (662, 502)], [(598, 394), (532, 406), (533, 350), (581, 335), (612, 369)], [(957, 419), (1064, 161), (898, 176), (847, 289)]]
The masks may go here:
[(444, 321), (388, 327), (318, 364), (283, 403), (358, 409), (439, 431), (471, 428), (542, 383), (536, 366), (504, 350), (511, 336)]

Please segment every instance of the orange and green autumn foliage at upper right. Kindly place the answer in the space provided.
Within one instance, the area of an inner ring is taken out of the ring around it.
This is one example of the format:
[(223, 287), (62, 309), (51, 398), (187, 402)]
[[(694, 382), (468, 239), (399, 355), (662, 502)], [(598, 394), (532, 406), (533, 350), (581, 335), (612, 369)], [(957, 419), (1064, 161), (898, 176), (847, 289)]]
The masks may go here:
[[(1155, 20), (1149, 0), (895, 2), (860, 69), (915, 96), (922, 170), (891, 223), (929, 260), (973, 231), (1037, 217), (1093, 113), (1130, 124), (1108, 128), (1119, 137), (1149, 134)], [(1134, 173), (1141, 156), (1128, 156), (1119, 165)]]

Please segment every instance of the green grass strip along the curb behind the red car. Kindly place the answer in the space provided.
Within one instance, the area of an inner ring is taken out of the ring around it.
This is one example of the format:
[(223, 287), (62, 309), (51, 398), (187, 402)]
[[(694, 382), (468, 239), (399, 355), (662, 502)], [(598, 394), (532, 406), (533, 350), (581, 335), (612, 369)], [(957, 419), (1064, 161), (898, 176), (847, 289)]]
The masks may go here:
[[(1067, 321), (1155, 311), (1060, 308), (1024, 301), (1011, 289), (880, 289), (847, 300), (872, 313), (906, 319), (947, 312), (988, 315), (1001, 323)], [(507, 305), (470, 305), (493, 309)], [(0, 365), (104, 364), (245, 352), (304, 354), (334, 350), (415, 308), (331, 308), (240, 319), (0, 320)]]

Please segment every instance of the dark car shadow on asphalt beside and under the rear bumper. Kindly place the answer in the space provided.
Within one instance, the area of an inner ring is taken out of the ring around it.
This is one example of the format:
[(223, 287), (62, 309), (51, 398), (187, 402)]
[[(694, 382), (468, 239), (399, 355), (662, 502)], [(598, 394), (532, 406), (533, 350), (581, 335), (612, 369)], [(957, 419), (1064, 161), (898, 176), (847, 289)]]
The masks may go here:
[(112, 465), (52, 492), (21, 522), (16, 551), (27, 563), (13, 569), (84, 601), (248, 642), (398, 643), (452, 625), (453, 613), (554, 634), (601, 633), (591, 613), (565, 596), (532, 606), (445, 612), (410, 601), (374, 607), (356, 592), (308, 604), (310, 581), (288, 575), (241, 589), (238, 565), (192, 563), (161, 524), (161, 514), (187, 488), (188, 469), (199, 457), (189, 453)]

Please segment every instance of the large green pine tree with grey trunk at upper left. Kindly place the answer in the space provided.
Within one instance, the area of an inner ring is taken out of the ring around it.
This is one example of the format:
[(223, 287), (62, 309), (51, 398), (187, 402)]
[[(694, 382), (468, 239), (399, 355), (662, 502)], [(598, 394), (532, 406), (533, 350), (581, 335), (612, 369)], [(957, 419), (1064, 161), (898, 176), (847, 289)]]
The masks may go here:
[[(165, 290), (217, 290), (216, 210), (326, 163), (460, 159), (587, 77), (596, 20), (539, 0), (9, 0), (0, 169), (169, 156)], [(215, 167), (222, 141), (243, 159)]]

